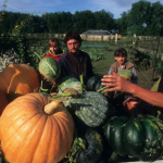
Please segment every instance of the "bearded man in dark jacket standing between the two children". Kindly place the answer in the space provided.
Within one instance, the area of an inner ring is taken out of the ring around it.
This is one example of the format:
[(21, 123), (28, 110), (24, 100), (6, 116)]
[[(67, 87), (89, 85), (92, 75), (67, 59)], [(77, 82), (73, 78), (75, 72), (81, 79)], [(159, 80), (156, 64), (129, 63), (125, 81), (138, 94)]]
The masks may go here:
[(80, 51), (82, 37), (77, 32), (68, 32), (65, 35), (64, 43), (67, 51), (58, 60), (61, 66), (61, 77), (72, 76), (79, 79), (79, 75), (84, 77), (84, 84), (93, 75), (90, 57)]

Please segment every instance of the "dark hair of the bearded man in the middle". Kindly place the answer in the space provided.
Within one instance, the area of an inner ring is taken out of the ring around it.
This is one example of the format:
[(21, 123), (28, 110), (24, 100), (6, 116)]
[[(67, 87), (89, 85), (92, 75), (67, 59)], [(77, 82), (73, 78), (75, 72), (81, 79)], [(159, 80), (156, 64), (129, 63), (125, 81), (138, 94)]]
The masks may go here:
[(72, 30), (68, 32), (68, 33), (66, 33), (66, 35), (65, 35), (65, 37), (64, 37), (64, 43), (66, 43), (70, 39), (76, 39), (76, 40), (78, 40), (80, 43), (82, 43), (82, 41), (83, 41), (83, 39), (82, 39), (79, 33), (77, 33), (77, 32), (72, 32)]

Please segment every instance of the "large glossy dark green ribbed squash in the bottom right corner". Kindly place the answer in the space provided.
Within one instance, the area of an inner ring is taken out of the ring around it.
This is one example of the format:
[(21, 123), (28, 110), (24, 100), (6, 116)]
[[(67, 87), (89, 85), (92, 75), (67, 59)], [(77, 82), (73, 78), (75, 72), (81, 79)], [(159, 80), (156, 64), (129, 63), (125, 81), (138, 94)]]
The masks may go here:
[(138, 118), (114, 116), (105, 123), (104, 135), (120, 155), (153, 162), (163, 154), (163, 123), (152, 115)]

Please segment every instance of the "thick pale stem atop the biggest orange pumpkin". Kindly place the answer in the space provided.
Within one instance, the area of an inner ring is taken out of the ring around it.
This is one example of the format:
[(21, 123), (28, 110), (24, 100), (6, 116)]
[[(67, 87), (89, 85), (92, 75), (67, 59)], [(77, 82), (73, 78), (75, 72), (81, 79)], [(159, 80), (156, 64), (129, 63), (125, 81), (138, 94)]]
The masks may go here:
[(45, 106), (45, 112), (46, 112), (47, 114), (51, 115), (51, 114), (53, 114), (54, 109), (55, 109), (55, 108), (59, 108), (59, 106), (60, 106), (60, 103), (63, 102), (63, 101), (68, 100), (68, 98), (53, 99), (53, 98), (48, 97), (48, 100), (49, 100), (49, 101), (52, 101), (52, 102), (46, 104), (46, 106)]

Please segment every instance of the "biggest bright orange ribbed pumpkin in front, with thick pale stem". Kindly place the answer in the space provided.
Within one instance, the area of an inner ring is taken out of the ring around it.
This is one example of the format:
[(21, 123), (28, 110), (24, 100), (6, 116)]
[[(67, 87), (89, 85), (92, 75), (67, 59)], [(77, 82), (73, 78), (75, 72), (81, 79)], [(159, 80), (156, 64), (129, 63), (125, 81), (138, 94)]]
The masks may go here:
[(41, 93), (28, 93), (8, 104), (0, 118), (0, 136), (9, 162), (58, 163), (70, 151), (74, 121), (62, 104), (48, 103)]

